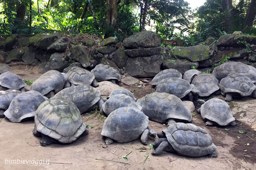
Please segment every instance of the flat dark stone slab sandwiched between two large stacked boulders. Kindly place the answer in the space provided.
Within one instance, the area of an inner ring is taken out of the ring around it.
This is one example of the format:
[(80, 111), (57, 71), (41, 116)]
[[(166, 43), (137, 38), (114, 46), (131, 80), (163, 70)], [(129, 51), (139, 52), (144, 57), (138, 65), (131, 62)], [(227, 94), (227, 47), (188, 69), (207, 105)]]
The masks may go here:
[(153, 48), (139, 48), (139, 49), (128, 49), (125, 50), (125, 54), (129, 57), (144, 57), (160, 54), (162, 47), (153, 47)]

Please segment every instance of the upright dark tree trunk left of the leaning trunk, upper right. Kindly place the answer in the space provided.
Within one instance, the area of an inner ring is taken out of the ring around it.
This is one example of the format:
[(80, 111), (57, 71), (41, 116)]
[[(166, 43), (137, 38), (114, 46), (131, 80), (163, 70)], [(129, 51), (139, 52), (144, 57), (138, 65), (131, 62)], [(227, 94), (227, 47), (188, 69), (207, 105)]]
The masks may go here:
[(232, 0), (222, 0), (222, 9), (223, 11), (229, 10), (229, 12), (227, 12), (226, 16), (225, 16), (225, 23), (226, 23), (226, 32), (230, 33), (232, 30), (232, 11), (231, 9), (233, 8), (232, 6)]

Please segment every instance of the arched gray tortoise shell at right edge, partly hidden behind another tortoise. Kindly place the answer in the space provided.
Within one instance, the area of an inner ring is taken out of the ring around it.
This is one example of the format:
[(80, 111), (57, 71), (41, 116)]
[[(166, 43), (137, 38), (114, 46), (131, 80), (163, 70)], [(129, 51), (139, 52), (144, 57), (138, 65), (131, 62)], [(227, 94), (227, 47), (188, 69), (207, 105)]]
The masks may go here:
[(249, 77), (253, 83), (256, 82), (256, 68), (251, 65), (246, 65), (242, 62), (227, 62), (214, 68), (212, 75), (214, 75), (218, 81), (221, 81), (224, 77), (227, 77), (231, 72), (236, 72)]

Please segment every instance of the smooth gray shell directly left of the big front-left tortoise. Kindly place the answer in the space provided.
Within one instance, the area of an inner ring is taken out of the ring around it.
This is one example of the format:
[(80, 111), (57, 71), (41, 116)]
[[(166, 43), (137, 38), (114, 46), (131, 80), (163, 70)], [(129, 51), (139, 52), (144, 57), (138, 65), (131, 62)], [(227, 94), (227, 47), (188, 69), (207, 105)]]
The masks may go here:
[(19, 123), (23, 119), (34, 117), (38, 106), (47, 98), (37, 91), (27, 91), (12, 99), (9, 108), (3, 113), (11, 122)]

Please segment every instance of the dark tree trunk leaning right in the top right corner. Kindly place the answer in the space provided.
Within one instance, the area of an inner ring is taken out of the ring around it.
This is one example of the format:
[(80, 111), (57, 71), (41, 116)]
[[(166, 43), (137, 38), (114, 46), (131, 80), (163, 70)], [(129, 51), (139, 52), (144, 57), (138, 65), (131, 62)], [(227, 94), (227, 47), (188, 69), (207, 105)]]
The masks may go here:
[(256, 18), (256, 0), (252, 0), (244, 20), (244, 28), (252, 27)]

